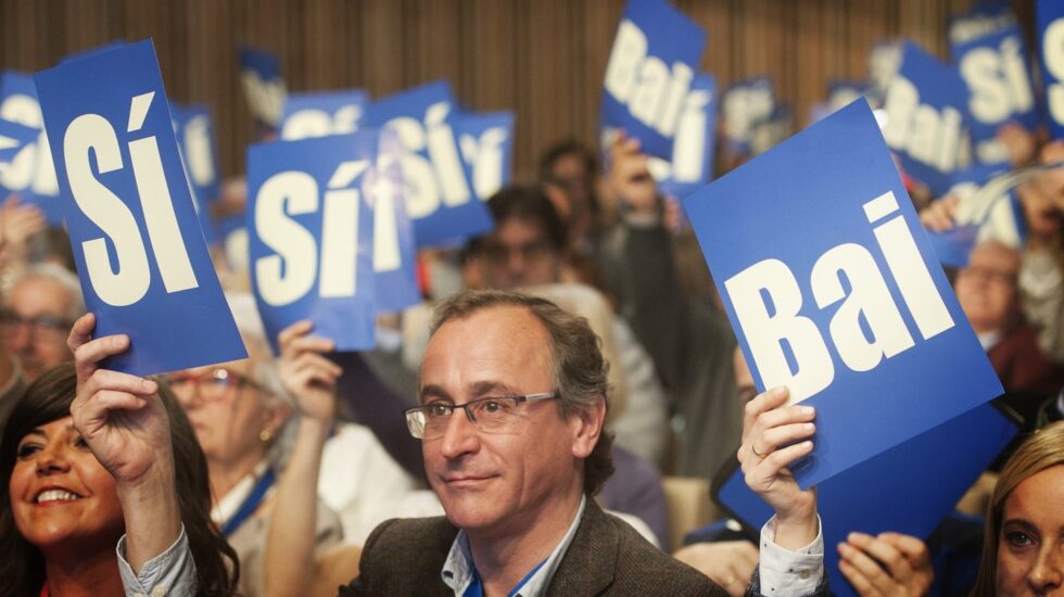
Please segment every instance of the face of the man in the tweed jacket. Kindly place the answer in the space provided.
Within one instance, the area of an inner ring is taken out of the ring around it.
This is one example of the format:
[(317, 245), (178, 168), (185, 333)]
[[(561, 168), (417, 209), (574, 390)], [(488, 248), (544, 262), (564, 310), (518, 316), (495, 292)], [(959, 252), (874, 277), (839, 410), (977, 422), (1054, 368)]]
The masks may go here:
[[(447, 321), (432, 336), (420, 401), (461, 405), (554, 392), (555, 383), (550, 340), (539, 319), (523, 307), (489, 307)], [(486, 433), (455, 410), (442, 437), (422, 441), (426, 472), (447, 519), (472, 536), (512, 536), (556, 523), (572, 516), (582, 492), (582, 461), (598, 439), (600, 418), (562, 419), (555, 401), (522, 403), (518, 411), (514, 431)]]

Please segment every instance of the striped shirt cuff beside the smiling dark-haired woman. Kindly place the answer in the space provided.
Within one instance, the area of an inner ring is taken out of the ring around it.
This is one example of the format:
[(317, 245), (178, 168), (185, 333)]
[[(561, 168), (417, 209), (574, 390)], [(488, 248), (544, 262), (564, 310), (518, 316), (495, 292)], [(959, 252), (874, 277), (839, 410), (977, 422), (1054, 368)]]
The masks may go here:
[(127, 596), (163, 597), (164, 595), (195, 595), (195, 561), (189, 549), (185, 525), (181, 534), (165, 551), (144, 562), (140, 574), (135, 574), (126, 560), (126, 535), (122, 535), (115, 548), (118, 555), (118, 573)]

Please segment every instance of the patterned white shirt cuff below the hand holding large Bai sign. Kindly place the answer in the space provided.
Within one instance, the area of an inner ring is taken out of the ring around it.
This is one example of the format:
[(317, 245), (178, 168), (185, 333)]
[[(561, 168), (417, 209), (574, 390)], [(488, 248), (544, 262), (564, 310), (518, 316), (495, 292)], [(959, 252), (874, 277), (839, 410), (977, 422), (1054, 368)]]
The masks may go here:
[(816, 517), (816, 538), (790, 550), (775, 543), (776, 517), (761, 529), (761, 594), (773, 597), (811, 595), (824, 577), (824, 532)]

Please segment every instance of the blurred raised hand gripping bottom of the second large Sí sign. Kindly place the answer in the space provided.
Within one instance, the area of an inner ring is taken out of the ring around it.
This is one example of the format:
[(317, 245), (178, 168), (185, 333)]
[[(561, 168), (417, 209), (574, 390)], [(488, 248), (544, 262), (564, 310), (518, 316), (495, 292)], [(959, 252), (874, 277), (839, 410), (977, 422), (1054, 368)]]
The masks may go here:
[(302, 320), (278, 334), (281, 384), (295, 398), (304, 417), (331, 424), (337, 411), (337, 380), (343, 370), (324, 353), (335, 350), (327, 338), (309, 335), (314, 323)]

